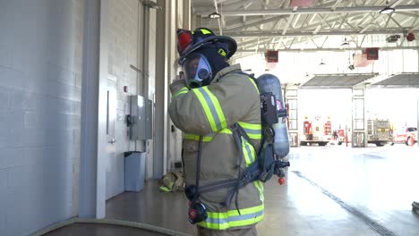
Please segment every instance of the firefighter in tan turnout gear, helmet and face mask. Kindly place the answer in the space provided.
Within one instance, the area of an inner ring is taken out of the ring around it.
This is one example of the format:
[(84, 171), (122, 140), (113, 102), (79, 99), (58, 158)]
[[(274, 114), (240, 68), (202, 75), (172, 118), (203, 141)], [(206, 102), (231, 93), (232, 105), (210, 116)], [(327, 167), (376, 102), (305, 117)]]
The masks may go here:
[[(227, 63), (237, 47), (233, 38), (199, 28), (177, 30), (177, 39), (184, 80), (170, 85), (168, 111), (184, 131), (186, 187), (236, 179), (256, 160), (255, 149), (261, 145), (259, 90), (239, 64)], [(235, 123), (249, 138), (242, 139), (241, 150), (229, 129)], [(229, 196), (231, 188), (198, 191), (190, 198), (189, 221), (197, 223), (199, 235), (257, 235), (263, 187), (261, 181), (252, 181), (237, 188), (234, 197)]]

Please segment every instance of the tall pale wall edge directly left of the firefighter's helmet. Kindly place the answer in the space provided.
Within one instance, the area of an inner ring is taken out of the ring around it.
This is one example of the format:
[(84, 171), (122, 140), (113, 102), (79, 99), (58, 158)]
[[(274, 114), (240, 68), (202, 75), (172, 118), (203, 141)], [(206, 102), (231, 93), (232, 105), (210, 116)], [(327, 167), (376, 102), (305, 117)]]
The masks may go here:
[[(167, 105), (170, 103), (170, 91), (168, 85), (175, 79), (179, 68), (175, 64), (176, 51), (176, 28), (183, 28), (190, 24), (190, 0), (158, 1), (163, 10), (157, 12), (156, 23), (156, 86), (155, 86), (155, 138), (153, 178), (159, 179), (163, 174), (175, 166), (175, 162), (181, 160), (182, 133), (175, 129), (172, 131), (172, 122), (167, 113)], [(189, 11), (187, 11), (189, 10)], [(187, 17), (185, 16), (187, 15)]]

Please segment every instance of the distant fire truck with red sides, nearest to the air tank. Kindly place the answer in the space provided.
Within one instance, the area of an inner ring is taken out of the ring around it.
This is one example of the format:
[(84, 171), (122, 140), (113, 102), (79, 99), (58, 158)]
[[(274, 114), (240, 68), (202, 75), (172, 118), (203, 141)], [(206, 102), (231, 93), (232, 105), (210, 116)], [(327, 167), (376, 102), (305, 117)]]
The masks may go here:
[(319, 146), (326, 146), (332, 136), (331, 122), (328, 117), (327, 121), (321, 119), (321, 116), (315, 116), (312, 121), (308, 117), (304, 117), (304, 131), (303, 137), (300, 140), (300, 146), (312, 146), (317, 144)]

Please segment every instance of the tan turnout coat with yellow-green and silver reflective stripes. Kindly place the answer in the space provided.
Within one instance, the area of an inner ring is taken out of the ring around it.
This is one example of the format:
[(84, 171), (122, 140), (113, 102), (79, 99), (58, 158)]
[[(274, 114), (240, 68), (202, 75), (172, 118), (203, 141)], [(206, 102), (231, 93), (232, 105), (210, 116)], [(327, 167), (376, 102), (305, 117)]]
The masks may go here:
[[(222, 69), (208, 86), (187, 89), (184, 81), (170, 85), (172, 101), (169, 114), (175, 126), (184, 131), (184, 176), (186, 186), (195, 184), (197, 151), (200, 136), (200, 186), (238, 178), (240, 163), (238, 147), (228, 127), (236, 122), (251, 139), (252, 145), (242, 138), (242, 173), (256, 161), (261, 144), (260, 96), (254, 81), (240, 73), (240, 65)], [(231, 188), (214, 190), (200, 195), (207, 208), (208, 218), (200, 227), (210, 230), (241, 229), (254, 226), (263, 218), (263, 183), (253, 181), (238, 191), (235, 199), (222, 206)]]

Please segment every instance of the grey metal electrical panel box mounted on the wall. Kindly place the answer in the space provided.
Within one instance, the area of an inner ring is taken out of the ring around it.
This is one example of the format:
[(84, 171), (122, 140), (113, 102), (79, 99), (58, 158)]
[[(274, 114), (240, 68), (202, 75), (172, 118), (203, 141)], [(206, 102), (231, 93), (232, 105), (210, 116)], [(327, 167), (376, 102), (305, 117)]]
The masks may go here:
[(141, 96), (131, 96), (130, 139), (152, 139), (153, 102)]

